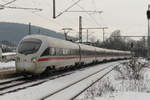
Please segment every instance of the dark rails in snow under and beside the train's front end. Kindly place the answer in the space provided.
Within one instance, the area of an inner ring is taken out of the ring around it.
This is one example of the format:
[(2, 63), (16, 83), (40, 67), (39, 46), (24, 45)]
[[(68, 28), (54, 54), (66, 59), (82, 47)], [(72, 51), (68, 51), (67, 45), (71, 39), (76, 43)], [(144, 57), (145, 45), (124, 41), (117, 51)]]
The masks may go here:
[(59, 75), (54, 74), (52, 77), (43, 76), (40, 78), (35, 78), (32, 76), (29, 76), (29, 77), (20, 76), (20, 77), (10, 78), (6, 80), (1, 80), (0, 81), (0, 96), (7, 94), (7, 93), (16, 92), (16, 91), (23, 90), (29, 87), (33, 87), (33, 86), (42, 84), (50, 80), (54, 80), (56, 78), (70, 75), (72, 73), (74, 72), (67, 72), (67, 73), (62, 73)]

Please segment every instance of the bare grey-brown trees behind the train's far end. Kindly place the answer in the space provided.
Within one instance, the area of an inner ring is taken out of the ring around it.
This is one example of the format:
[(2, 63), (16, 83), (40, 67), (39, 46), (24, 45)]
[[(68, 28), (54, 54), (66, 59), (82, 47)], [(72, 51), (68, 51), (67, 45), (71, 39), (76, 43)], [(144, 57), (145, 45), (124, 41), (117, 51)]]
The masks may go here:
[(95, 46), (107, 49), (132, 51), (134, 56), (147, 56), (147, 43), (145, 37), (133, 40), (130, 37), (122, 37), (120, 30), (115, 30), (104, 42), (96, 41)]

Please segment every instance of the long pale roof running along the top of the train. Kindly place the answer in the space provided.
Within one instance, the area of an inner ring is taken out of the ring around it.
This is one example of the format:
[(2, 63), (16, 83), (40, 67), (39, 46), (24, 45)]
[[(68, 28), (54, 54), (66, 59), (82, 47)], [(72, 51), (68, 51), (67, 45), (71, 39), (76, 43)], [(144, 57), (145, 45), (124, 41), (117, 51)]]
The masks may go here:
[[(27, 35), (24, 37), (26, 38), (37, 38), (42, 41), (49, 41), (49, 45), (53, 47), (59, 47), (59, 48), (70, 48), (70, 49), (78, 49), (78, 44), (79, 43), (73, 43), (70, 41), (54, 38), (54, 37), (49, 37), (45, 35), (38, 35), (38, 34), (33, 34), (33, 35)], [(55, 41), (55, 42), (54, 42)], [(99, 47), (94, 47), (94, 46), (89, 46), (85, 44), (79, 44), (82, 50), (93, 50), (96, 49), (97, 51), (104, 51), (104, 52), (113, 52), (113, 53), (130, 53), (130, 51), (121, 51), (121, 50), (113, 50), (113, 49), (105, 49), (105, 48), (99, 48)]]

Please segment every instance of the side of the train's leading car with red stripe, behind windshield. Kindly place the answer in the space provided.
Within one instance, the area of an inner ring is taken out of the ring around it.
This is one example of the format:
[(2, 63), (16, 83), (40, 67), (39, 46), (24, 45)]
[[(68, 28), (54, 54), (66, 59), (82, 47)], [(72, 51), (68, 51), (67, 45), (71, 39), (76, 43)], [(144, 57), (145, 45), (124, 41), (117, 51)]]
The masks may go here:
[(38, 59), (40, 66), (60, 68), (69, 67), (79, 62), (78, 44), (55, 38), (49, 38), (47, 42), (47, 48)]

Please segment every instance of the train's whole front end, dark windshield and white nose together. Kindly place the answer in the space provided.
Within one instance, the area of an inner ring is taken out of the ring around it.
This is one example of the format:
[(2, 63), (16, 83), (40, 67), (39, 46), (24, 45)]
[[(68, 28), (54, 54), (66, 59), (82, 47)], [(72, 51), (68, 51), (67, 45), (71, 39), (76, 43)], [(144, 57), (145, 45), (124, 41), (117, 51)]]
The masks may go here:
[[(39, 73), (39, 67), (36, 58), (39, 56), (39, 49), (42, 41), (32, 36), (24, 38), (18, 45), (16, 61), (16, 71), (25, 73)], [(35, 59), (35, 60), (34, 60)]]

